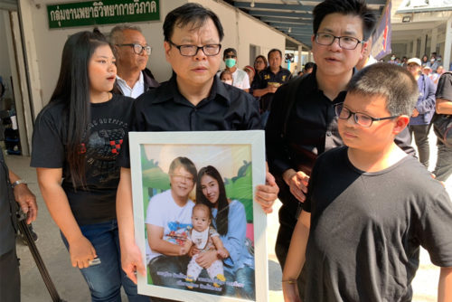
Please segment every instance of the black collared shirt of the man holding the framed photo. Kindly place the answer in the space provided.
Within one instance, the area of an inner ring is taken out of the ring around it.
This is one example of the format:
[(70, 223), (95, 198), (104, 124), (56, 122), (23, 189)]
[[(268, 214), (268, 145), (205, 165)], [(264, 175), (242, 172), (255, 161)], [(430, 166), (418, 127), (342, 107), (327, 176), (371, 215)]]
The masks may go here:
[[(259, 104), (243, 90), (213, 77), (212, 90), (194, 106), (177, 89), (175, 77), (135, 102), (130, 131), (219, 131), (259, 129)], [(128, 142), (118, 165), (129, 167)]]

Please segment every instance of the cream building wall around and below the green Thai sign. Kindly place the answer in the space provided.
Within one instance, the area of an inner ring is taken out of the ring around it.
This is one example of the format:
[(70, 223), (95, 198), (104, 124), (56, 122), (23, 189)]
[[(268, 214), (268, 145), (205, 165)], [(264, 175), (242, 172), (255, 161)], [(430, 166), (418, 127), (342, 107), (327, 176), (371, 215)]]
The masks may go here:
[[(193, 0), (192, 0), (193, 1)], [(60, 0), (59, 3), (73, 2), (73, 0)], [(184, 5), (187, 0), (160, 1), (160, 21), (136, 23), (141, 27), (146, 40), (152, 46), (153, 51), (148, 61), (148, 67), (153, 71), (156, 80), (164, 81), (171, 77), (171, 66), (165, 61), (163, 47), (164, 36), (162, 25), (165, 15), (175, 7)], [(285, 37), (275, 32), (268, 26), (253, 20), (251, 17), (240, 13), (230, 5), (225, 5), (212, 0), (193, 1), (212, 9), (219, 15), (224, 27), (225, 38), (222, 42), (223, 49), (234, 47), (239, 52), (239, 67), (248, 65), (250, 61), (250, 44), (260, 46), (260, 52), (267, 55), (268, 50), (278, 48), (284, 53)], [(39, 95), (42, 105), (45, 105), (55, 88), (61, 64), (61, 52), (68, 36), (80, 31), (91, 31), (92, 26), (49, 29), (46, 5), (55, 4), (55, 0), (40, 0), (39, 5), (34, 2), (21, 0), (22, 10), (33, 17), (24, 18), (25, 43), (29, 61), (35, 64), (36, 72), (32, 71), (32, 78), (39, 82)], [(102, 33), (108, 33), (115, 24), (99, 25)], [(28, 36), (28, 38), (27, 38)], [(1, 40), (0, 40), (1, 41)], [(28, 42), (28, 44), (27, 44)], [(34, 48), (34, 49), (33, 49)], [(32, 66), (33, 69), (33, 66)], [(32, 79), (33, 80), (33, 79)], [(36, 106), (39, 111), (41, 106)], [(38, 112), (35, 112), (37, 115)]]

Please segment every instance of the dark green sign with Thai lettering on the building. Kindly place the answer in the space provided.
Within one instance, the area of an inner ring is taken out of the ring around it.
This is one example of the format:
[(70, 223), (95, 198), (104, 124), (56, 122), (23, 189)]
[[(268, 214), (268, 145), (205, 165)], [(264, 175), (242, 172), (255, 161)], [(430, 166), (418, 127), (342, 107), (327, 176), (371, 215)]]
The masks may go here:
[(50, 28), (160, 20), (159, 0), (104, 0), (47, 5)]

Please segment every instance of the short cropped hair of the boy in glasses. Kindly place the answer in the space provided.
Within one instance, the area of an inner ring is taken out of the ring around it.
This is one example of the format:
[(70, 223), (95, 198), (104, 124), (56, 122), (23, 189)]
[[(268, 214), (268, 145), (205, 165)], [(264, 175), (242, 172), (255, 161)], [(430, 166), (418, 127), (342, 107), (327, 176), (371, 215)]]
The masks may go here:
[(381, 62), (372, 64), (353, 75), (347, 93), (366, 97), (386, 98), (386, 109), (391, 116), (411, 116), (419, 96), (418, 82), (410, 71), (399, 65)]

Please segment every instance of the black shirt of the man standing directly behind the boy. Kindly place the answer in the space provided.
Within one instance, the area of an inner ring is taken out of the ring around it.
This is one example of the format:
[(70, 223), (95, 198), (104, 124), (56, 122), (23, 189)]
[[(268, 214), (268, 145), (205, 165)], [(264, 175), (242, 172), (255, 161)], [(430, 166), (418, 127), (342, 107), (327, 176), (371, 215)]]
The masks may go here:
[[(337, 129), (334, 105), (344, 102), (346, 91), (341, 91), (333, 100), (328, 99), (318, 89), (315, 73), (316, 68), (311, 74), (278, 89), (265, 131), (268, 168), (277, 178), (279, 199), (290, 208), (288, 212), (296, 213), (298, 202), (282, 180), (282, 174), (293, 168), (310, 175), (317, 156), (336, 146), (344, 146)], [(295, 102), (289, 96), (294, 84), (298, 85)], [(407, 128), (394, 141), (414, 155)]]

